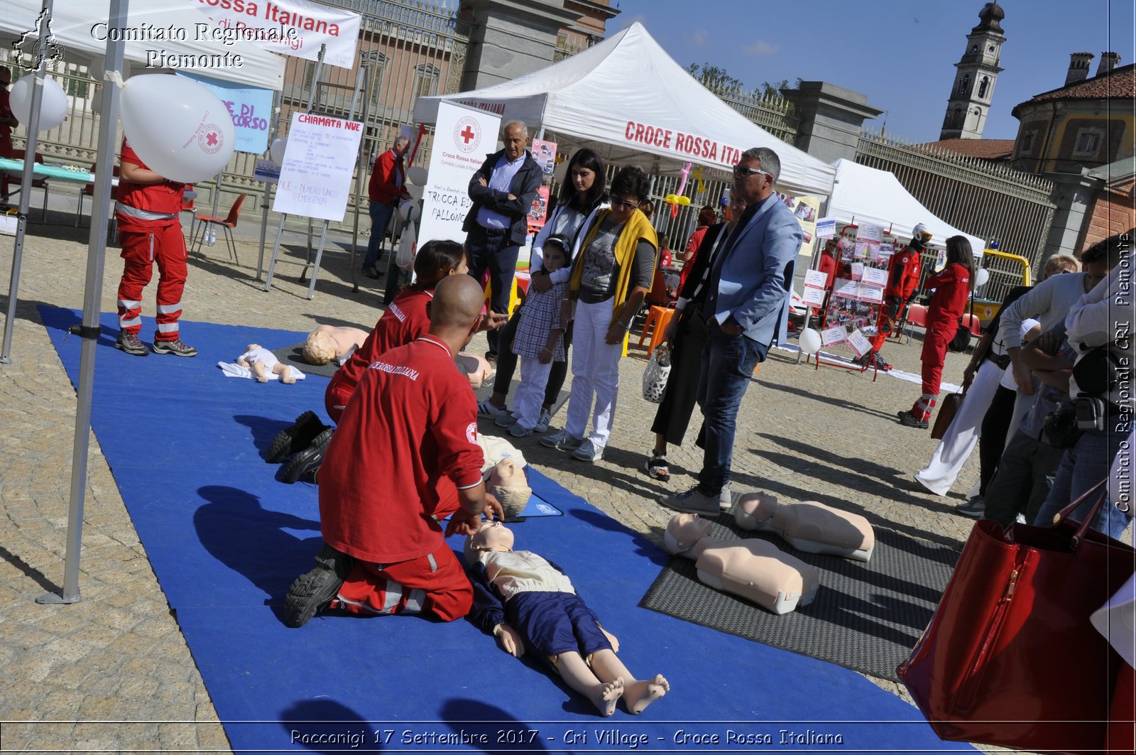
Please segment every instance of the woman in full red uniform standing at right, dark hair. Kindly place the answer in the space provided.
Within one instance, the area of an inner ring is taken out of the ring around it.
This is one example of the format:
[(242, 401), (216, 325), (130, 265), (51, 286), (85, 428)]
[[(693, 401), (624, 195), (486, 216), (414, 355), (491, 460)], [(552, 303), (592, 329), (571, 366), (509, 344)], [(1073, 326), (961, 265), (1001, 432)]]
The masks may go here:
[(959, 318), (967, 308), (967, 298), (974, 290), (975, 257), (966, 237), (946, 240), (946, 265), (928, 275), (924, 288), (935, 294), (927, 307), (927, 335), (924, 338), (922, 397), (910, 412), (899, 412), (900, 422), (909, 428), (926, 428), (930, 410), (938, 399), (938, 385), (946, 362), (946, 345), (959, 330)]

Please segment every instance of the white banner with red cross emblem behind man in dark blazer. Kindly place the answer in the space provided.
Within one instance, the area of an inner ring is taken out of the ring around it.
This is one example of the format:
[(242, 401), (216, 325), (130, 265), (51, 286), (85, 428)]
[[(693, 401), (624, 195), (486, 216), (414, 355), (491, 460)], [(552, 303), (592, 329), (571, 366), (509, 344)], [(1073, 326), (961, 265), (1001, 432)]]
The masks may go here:
[(485, 156), (496, 151), (500, 124), (492, 113), (438, 102), (419, 239), (466, 240), (461, 224), (473, 206), (469, 181)]

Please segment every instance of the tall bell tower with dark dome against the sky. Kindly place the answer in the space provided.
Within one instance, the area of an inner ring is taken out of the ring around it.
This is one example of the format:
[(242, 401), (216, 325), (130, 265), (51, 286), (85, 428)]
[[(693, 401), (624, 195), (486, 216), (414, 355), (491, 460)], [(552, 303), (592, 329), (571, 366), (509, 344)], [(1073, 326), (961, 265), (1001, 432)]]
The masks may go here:
[(987, 2), (978, 11), (978, 26), (967, 34), (967, 49), (954, 64), (954, 85), (946, 101), (943, 139), (982, 139), (994, 98), (994, 82), (1002, 68), (999, 57), (1005, 35), (1002, 19), (1005, 11), (996, 2)]

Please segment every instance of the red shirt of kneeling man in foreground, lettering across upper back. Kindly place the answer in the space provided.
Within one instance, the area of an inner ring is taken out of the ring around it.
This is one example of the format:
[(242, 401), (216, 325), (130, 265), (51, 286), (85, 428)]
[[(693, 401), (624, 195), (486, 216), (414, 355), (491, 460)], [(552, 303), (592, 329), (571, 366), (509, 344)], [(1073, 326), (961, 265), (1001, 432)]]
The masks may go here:
[(443, 541), (431, 517), (442, 495), (482, 481), (477, 400), (433, 335), (365, 371), (319, 468), (324, 540), (378, 564), (418, 558)]

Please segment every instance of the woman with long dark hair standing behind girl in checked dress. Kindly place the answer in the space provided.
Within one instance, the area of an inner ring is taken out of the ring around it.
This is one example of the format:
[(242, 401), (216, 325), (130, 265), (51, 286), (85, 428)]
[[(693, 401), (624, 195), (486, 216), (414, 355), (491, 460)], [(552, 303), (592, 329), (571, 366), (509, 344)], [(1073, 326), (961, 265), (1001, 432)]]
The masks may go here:
[[(568, 281), (571, 271), (571, 260), (561, 269), (549, 273), (542, 264), (544, 240), (551, 235), (562, 235), (573, 241), (569, 250), (575, 259), (578, 251), (576, 235), (592, 213), (600, 207), (607, 207), (608, 193), (604, 190), (604, 165), (603, 159), (591, 149), (577, 150), (568, 160), (568, 181), (560, 189), (560, 201), (549, 214), (549, 219), (544, 227), (533, 240), (533, 256), (529, 260), (529, 285), (533, 291), (543, 293), (556, 283)], [(498, 351), (496, 378), (493, 381), (493, 396), (477, 405), (477, 413), (481, 416), (500, 418), (508, 423), (510, 413), (506, 407), (509, 397), (509, 383), (512, 381), (512, 373), (517, 368), (517, 355), (512, 352), (512, 339), (517, 332), (517, 323), (520, 321), (519, 310), (509, 318), (509, 324), (501, 331), (501, 346)], [(534, 432), (544, 432), (549, 429), (549, 418), (552, 404), (563, 388), (565, 378), (568, 375), (568, 347), (571, 345), (570, 331), (565, 334), (563, 348), (565, 358), (552, 363), (552, 371), (549, 373), (549, 382), (544, 389), (544, 406), (541, 410), (541, 418), (536, 423)]]

